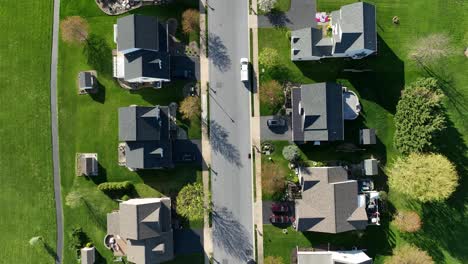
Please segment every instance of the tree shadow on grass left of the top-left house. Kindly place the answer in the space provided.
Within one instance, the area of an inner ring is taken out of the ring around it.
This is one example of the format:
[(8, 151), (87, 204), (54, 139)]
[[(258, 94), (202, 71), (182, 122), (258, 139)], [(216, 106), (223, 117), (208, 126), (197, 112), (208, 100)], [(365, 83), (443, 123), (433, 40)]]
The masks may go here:
[(112, 49), (106, 40), (96, 34), (89, 35), (83, 49), (87, 63), (100, 74), (112, 75)]

